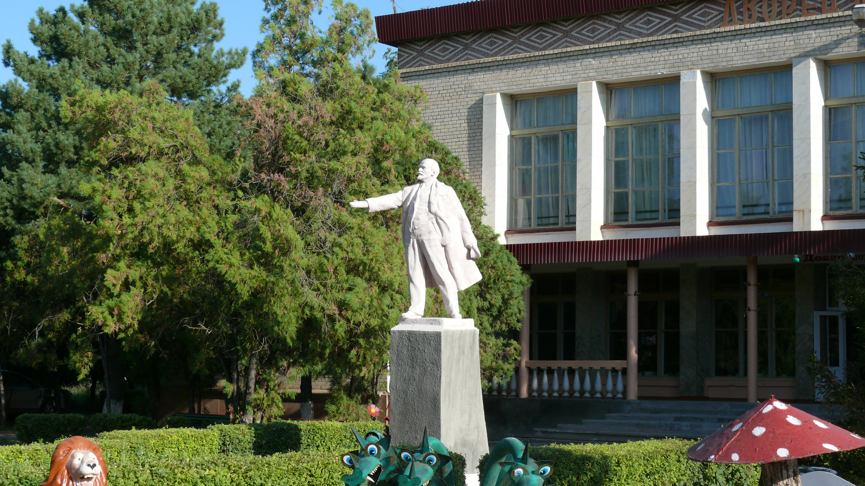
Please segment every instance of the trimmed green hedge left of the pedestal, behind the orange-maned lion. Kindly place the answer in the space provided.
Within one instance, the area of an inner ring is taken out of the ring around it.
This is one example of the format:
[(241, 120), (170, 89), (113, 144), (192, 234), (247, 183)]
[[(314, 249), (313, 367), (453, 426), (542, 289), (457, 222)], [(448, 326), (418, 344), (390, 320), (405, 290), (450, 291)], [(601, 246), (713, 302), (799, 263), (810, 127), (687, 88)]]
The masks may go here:
[[(349, 425), (361, 434), (382, 428), (372, 420), (279, 421), (102, 432), (94, 442), (106, 457), (112, 486), (325, 486), (341, 484), (348, 471), (338, 458), (357, 447)], [(44, 481), (55, 445), (0, 446), (0, 486)], [(465, 459), (452, 457), (457, 486), (465, 486)]]

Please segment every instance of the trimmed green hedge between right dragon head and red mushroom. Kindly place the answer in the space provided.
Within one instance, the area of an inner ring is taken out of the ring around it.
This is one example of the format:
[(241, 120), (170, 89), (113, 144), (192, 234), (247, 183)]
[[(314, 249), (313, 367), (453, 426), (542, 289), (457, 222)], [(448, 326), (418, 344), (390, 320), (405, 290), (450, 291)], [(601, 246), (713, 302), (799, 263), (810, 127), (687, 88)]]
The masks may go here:
[[(568, 444), (531, 447), (529, 457), (555, 461), (550, 483), (558, 486), (755, 486), (759, 464), (695, 463), (693, 441), (644, 440), (626, 444)], [(478, 470), (484, 470), (487, 457)]]

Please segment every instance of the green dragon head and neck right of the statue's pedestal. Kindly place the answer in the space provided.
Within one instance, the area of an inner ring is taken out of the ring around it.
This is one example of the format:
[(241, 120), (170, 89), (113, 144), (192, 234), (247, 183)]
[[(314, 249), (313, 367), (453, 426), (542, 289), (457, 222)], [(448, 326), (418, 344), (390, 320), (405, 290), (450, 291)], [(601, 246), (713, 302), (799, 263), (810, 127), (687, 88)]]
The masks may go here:
[[(529, 443), (503, 438), (490, 451), (481, 475), (481, 486), (543, 486), (553, 474), (554, 461), (535, 461), (529, 457)], [(553, 486), (553, 485), (549, 485)]]

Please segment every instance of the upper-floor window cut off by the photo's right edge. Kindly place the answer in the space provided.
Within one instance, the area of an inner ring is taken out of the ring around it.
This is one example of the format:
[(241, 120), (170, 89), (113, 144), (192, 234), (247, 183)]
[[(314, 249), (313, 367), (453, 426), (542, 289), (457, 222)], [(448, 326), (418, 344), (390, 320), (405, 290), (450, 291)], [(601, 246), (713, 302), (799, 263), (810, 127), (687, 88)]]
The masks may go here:
[(865, 211), (865, 187), (856, 176), (865, 165), (865, 61), (829, 66), (829, 133), (826, 150), (829, 211)]

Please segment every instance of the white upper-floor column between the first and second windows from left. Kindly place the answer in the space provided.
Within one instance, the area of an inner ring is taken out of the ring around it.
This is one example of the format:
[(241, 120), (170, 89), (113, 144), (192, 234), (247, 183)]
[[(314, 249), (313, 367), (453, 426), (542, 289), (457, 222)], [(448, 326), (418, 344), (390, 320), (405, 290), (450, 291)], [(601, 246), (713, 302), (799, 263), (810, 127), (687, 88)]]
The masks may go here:
[(604, 224), (606, 85), (577, 85), (577, 241), (601, 240)]

